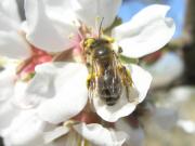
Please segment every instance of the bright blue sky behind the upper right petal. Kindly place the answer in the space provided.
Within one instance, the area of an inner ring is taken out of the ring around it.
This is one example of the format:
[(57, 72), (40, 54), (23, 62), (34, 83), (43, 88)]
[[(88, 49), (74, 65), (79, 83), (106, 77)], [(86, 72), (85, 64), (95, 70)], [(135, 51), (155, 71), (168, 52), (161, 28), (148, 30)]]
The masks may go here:
[[(148, 4), (154, 4), (155, 2), (141, 2), (139, 0), (131, 0), (125, 2), (119, 11), (119, 16), (123, 22), (129, 21), (132, 15), (138, 13), (141, 9), (145, 8)], [(177, 30), (174, 38), (178, 38), (182, 34), (184, 13), (185, 13), (185, 0), (166, 0), (165, 4), (171, 6), (168, 16), (172, 17), (177, 24)]]

